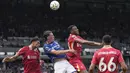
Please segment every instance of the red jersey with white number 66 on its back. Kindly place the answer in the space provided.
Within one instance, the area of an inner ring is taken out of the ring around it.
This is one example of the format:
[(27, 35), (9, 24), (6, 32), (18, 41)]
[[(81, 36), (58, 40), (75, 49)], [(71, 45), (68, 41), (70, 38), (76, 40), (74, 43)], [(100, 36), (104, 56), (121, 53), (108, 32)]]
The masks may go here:
[(94, 53), (91, 61), (98, 66), (98, 73), (117, 73), (120, 62), (124, 62), (124, 59), (121, 52), (115, 48), (101, 48)]

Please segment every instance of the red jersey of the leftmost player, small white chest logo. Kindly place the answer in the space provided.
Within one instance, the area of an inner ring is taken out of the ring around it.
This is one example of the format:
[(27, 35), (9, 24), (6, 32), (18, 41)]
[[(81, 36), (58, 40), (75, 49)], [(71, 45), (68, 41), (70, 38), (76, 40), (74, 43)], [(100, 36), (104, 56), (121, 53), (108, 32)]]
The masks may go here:
[(39, 50), (30, 50), (30, 48), (26, 46), (18, 51), (18, 55), (23, 57), (24, 73), (41, 73)]

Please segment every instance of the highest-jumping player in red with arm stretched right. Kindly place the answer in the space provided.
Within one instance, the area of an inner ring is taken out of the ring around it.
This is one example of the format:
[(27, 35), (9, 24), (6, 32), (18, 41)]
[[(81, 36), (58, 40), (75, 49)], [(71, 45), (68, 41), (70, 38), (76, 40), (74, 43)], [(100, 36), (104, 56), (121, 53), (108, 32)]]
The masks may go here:
[(79, 30), (75, 25), (71, 25), (68, 27), (70, 32), (70, 36), (68, 38), (68, 47), (69, 49), (74, 49), (77, 53), (67, 53), (69, 62), (75, 67), (75, 69), (79, 73), (87, 73), (86, 67), (82, 63), (82, 59), (80, 57), (82, 51), (81, 44), (88, 44), (88, 45), (101, 45), (101, 43), (92, 42), (88, 40), (84, 40), (79, 36)]

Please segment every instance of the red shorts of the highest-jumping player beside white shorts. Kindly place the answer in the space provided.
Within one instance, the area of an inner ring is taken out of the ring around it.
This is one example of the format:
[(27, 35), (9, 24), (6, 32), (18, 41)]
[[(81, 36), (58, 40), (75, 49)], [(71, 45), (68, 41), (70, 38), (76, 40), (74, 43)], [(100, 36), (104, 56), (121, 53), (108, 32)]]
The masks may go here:
[(80, 72), (82, 70), (86, 70), (86, 67), (84, 66), (83, 62), (81, 60), (70, 60), (69, 61), (71, 65), (74, 66), (74, 68)]

